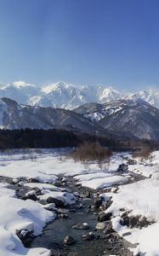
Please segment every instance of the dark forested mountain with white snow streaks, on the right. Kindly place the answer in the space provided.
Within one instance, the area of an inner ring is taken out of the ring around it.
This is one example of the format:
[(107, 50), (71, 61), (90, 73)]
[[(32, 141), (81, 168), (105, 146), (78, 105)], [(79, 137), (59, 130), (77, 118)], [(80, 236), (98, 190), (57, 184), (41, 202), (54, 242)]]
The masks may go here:
[(143, 100), (123, 99), (102, 106), (91, 103), (75, 111), (82, 113), (84, 117), (102, 126), (106, 131), (122, 137), (159, 139), (159, 109)]

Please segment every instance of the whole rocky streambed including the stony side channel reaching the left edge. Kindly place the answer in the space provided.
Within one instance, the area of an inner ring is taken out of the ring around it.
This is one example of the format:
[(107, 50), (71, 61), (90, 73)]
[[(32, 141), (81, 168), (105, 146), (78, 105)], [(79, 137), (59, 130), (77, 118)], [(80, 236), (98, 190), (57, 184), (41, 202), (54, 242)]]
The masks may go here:
[[(144, 178), (139, 174), (130, 172), (122, 172), (121, 174), (129, 176), (128, 183)], [(10, 183), (10, 189), (16, 191), (18, 198), (39, 201), (43, 207), (56, 214), (56, 218), (43, 228), (43, 233), (40, 236), (33, 236), (32, 231), (24, 234), (24, 230), (22, 230), (23, 232), (20, 230), (17, 233), (26, 247), (48, 248), (51, 251), (51, 256), (133, 255), (129, 250), (133, 245), (124, 240), (123, 237), (118, 236), (112, 229), (111, 214), (105, 214), (105, 209), (111, 206), (111, 198), (105, 201), (101, 194), (112, 192), (112, 189), (113, 193), (116, 193), (117, 185), (107, 189), (89, 189), (79, 184), (76, 177), (59, 175), (58, 180), (54, 183), (54, 191), (70, 193), (76, 198), (76, 203), (64, 204), (52, 197), (42, 200), (41, 196), (50, 191), (48, 192), (47, 189), (42, 191), (38, 186), (37, 188), (30, 187), (31, 183), (41, 184), (37, 180), (26, 180), (23, 177), (17, 180), (0, 177), (0, 180)], [(30, 186), (27, 186), (27, 183)], [(74, 198), (72, 197), (70, 200), (74, 200)], [(48, 205), (48, 203), (50, 204)]]

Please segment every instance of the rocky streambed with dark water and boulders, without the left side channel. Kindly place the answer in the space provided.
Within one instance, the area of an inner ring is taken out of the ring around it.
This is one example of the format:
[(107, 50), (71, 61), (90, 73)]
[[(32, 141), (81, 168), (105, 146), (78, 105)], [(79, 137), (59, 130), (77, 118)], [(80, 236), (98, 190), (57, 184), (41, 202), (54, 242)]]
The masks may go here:
[[(139, 175), (133, 177), (135, 181), (142, 178)], [(60, 177), (58, 185), (74, 193), (77, 203), (57, 208), (56, 219), (27, 246), (46, 247), (52, 256), (133, 255), (129, 250), (133, 245), (112, 230), (111, 216), (104, 213), (111, 201), (103, 205), (99, 195), (111, 189), (84, 188), (73, 177), (65, 179), (65, 183), (61, 180)]]

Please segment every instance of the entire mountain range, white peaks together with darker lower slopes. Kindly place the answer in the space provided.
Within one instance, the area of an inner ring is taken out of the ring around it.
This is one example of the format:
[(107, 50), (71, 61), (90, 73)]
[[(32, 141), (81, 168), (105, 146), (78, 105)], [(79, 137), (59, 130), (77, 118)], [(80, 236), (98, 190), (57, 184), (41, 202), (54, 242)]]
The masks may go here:
[(1, 85), (0, 128), (66, 129), (105, 137), (159, 140), (159, 92), (122, 95), (101, 85)]

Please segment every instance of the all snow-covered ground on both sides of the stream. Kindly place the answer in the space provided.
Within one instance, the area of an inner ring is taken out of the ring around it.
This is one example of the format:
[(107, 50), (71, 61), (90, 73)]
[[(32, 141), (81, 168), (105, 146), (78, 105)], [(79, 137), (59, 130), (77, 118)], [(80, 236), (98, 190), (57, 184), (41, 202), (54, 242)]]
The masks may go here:
[[(23, 235), (29, 231), (37, 236), (43, 227), (55, 218), (54, 211), (46, 210), (40, 201), (47, 201), (48, 197), (53, 197), (63, 201), (64, 205), (76, 202), (74, 195), (54, 185), (59, 175), (72, 176), (77, 183), (91, 189), (119, 186), (116, 193), (113, 189), (109, 195), (105, 193), (105, 196), (112, 197), (111, 207), (106, 212), (113, 213), (113, 228), (120, 236), (129, 232), (124, 238), (137, 244), (134, 255), (137, 252), (146, 256), (159, 255), (159, 152), (154, 152), (150, 160), (138, 159), (135, 164), (128, 166), (128, 172), (125, 173), (116, 172), (122, 162), (127, 162), (122, 156), (125, 157), (127, 154), (115, 154), (104, 172), (95, 163), (85, 169), (81, 163), (62, 160), (55, 153), (37, 154), (35, 158), (27, 157), (25, 160), (23, 154), (3, 154), (0, 160), (0, 176), (13, 179), (14, 183), (19, 183), (20, 189), (30, 188), (32, 194), (37, 188), (41, 195), (38, 196), (39, 201), (23, 201), (17, 198), (16, 191), (9, 183), (0, 183), (0, 255), (50, 255), (49, 250), (45, 248), (24, 247), (17, 233)], [(133, 172), (143, 175), (145, 179), (130, 183), (133, 182)], [(153, 224), (142, 229), (123, 226), (123, 208), (124, 211), (129, 211), (128, 216), (145, 217)]]

